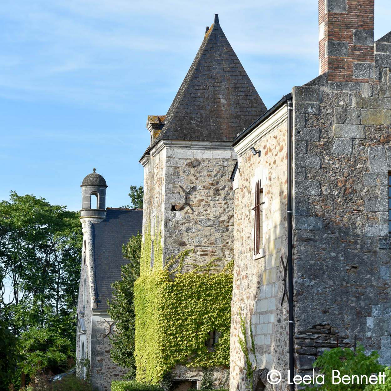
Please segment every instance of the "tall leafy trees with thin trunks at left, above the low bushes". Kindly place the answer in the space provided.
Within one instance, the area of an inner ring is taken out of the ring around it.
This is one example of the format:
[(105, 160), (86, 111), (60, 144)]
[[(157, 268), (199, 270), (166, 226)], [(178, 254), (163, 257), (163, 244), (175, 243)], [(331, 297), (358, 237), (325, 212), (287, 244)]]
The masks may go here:
[(64, 206), (16, 192), (0, 203), (0, 318), (13, 334), (58, 326), (73, 311), (82, 237), (78, 213)]

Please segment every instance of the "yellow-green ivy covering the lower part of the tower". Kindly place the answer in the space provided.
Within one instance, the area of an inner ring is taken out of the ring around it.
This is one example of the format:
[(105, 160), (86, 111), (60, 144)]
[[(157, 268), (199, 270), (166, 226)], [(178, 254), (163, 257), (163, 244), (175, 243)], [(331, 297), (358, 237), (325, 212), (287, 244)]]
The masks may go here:
[[(154, 240), (151, 268), (150, 231), (144, 235), (140, 278), (135, 283), (136, 379), (157, 384), (176, 364), (229, 366), (233, 261), (203, 266), (185, 262), (185, 250), (162, 267), (160, 234)], [(192, 271), (184, 271), (187, 267)], [(219, 335), (207, 348), (208, 333)]]

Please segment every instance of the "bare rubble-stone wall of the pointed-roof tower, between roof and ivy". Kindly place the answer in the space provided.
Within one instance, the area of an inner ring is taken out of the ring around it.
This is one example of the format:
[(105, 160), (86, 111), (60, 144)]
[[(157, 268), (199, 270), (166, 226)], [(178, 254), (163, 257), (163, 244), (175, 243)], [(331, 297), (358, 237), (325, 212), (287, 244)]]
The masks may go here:
[[(236, 154), (230, 143), (167, 145), (145, 161), (144, 224), (161, 230), (163, 260), (194, 249), (197, 260), (233, 257)], [(187, 194), (187, 195), (186, 195)], [(145, 226), (145, 225), (144, 225)], [(145, 228), (143, 228), (145, 230)], [(152, 228), (153, 234), (153, 228)]]

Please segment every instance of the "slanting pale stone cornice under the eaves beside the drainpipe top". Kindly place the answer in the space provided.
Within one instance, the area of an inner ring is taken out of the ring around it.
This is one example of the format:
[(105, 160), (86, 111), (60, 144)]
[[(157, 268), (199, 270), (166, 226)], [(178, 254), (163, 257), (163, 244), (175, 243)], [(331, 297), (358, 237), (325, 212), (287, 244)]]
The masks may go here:
[(233, 148), (238, 157), (247, 152), (251, 147), (256, 145), (259, 140), (270, 133), (273, 129), (280, 126), (288, 118), (288, 110), (285, 105), (275, 111), (273, 115), (267, 117), (261, 124), (259, 124), (251, 133), (239, 141)]

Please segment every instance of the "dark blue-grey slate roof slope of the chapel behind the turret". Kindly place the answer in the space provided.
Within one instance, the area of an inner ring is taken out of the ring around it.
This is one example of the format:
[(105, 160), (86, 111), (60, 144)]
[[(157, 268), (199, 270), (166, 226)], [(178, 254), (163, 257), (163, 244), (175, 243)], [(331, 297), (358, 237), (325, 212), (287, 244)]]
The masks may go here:
[(111, 283), (120, 280), (121, 265), (129, 263), (122, 256), (122, 244), (132, 235), (142, 232), (143, 211), (107, 208), (106, 218), (92, 224), (95, 262), (95, 289), (97, 310), (107, 310), (107, 299), (111, 300)]

